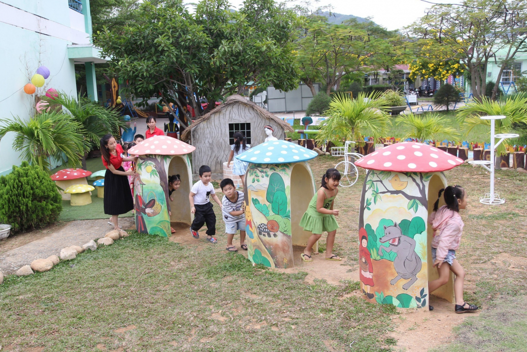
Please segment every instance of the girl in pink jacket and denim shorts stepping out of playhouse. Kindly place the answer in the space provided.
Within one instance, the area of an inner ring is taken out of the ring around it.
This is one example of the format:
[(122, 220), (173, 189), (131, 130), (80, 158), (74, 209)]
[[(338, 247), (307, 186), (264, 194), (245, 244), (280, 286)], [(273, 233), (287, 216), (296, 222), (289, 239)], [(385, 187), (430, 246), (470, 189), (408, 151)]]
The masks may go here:
[[(446, 205), (437, 209), (443, 191)], [(443, 188), (437, 196), (434, 204), (434, 212), (428, 217), (428, 223), (432, 224), (432, 228), (434, 229), (432, 260), (434, 266), (437, 266), (437, 273), (439, 274), (438, 279), (428, 281), (428, 292), (432, 293), (445, 285), (448, 282), (449, 271), (452, 271), (456, 276), (454, 280), (456, 313), (477, 310), (476, 305), (465, 303), (463, 300), (465, 271), (460, 263), (457, 262), (455, 252), (460, 246), (464, 226), (459, 211), (460, 209), (466, 209), (467, 198), (466, 191), (461, 186), (448, 186)], [(430, 309), (432, 310), (433, 307), (431, 306)]]

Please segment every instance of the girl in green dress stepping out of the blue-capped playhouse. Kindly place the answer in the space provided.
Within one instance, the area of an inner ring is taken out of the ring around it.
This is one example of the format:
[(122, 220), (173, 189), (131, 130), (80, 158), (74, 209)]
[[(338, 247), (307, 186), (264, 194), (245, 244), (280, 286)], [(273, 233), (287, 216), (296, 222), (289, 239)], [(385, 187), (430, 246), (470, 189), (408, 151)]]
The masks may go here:
[(341, 260), (333, 252), (333, 244), (335, 243), (335, 234), (337, 233), (338, 210), (333, 209), (333, 201), (338, 194), (338, 185), (340, 183), (340, 173), (337, 169), (327, 169), (324, 176), (322, 176), (322, 185), (318, 192), (313, 196), (306, 213), (300, 219), (300, 226), (304, 230), (309, 231), (313, 235), (307, 240), (307, 246), (304, 253), (301, 254), (304, 262), (313, 262), (311, 259), (311, 249), (322, 236), (323, 232), (328, 233), (326, 239), (326, 259)]

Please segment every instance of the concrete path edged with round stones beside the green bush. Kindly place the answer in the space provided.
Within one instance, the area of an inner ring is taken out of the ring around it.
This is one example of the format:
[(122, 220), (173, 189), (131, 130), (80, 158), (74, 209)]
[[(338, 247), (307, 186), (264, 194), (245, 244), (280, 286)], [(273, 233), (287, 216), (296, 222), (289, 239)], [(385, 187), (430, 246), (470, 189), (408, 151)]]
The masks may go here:
[[(104, 237), (113, 229), (107, 222), (108, 219), (72, 221), (46, 237), (2, 253), (0, 254), (0, 271), (4, 275), (14, 274), (16, 270), (31, 264), (35, 259), (60, 254), (64, 247), (82, 246), (91, 239)], [(119, 218), (119, 225), (123, 229), (134, 228), (134, 218)]]

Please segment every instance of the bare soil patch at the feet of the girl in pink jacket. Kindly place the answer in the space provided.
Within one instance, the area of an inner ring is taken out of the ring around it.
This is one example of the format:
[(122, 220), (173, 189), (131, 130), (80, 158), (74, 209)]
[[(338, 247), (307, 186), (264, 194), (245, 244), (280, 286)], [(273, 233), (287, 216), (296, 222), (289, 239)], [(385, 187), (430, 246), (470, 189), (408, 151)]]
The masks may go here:
[(430, 304), (434, 310), (397, 308), (400, 315), (393, 318), (394, 331), (389, 336), (397, 339), (396, 348), (401, 351), (427, 351), (454, 341), (454, 326), (463, 323), (469, 315), (479, 313), (456, 314), (450, 302), (431, 296)]

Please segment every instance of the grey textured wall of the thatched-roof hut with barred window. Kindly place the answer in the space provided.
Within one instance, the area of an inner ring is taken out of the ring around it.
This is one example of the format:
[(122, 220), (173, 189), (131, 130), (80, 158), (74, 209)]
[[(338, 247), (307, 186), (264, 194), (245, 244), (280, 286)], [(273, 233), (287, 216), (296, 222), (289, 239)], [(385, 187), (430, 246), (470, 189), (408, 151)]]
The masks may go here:
[(258, 114), (251, 106), (233, 103), (214, 113), (192, 129), (192, 145), (196, 150), (192, 152), (192, 173), (199, 174), (201, 165), (208, 165), (212, 170), (213, 179), (223, 176), (223, 162), (230, 153), (229, 124), (251, 124), (251, 146), (263, 143), (267, 137), (264, 132), (266, 125), (271, 125), (278, 139), (284, 139), (284, 128), (275, 121)]

